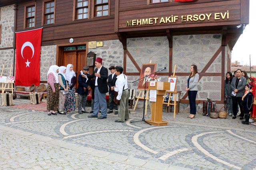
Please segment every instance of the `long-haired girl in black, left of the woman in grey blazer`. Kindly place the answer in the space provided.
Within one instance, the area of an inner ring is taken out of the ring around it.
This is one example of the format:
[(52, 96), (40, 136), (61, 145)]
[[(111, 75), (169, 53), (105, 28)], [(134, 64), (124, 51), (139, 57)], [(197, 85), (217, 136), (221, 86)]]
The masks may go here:
[(227, 72), (226, 73), (226, 80), (225, 80), (225, 98), (226, 98), (226, 107), (228, 110), (228, 115), (233, 116), (233, 109), (232, 109), (232, 97), (230, 96), (232, 91), (230, 88), (230, 84), (232, 82), (232, 73)]

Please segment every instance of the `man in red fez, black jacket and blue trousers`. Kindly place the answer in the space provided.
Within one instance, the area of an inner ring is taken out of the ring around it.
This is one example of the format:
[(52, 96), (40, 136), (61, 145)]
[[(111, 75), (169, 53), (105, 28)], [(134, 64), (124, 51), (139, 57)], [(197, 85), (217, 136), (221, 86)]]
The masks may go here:
[(108, 69), (102, 66), (102, 58), (97, 57), (95, 61), (96, 69), (89, 78), (94, 78), (94, 109), (92, 115), (88, 117), (98, 117), (101, 109), (101, 116), (98, 119), (107, 118), (106, 93), (108, 92)]

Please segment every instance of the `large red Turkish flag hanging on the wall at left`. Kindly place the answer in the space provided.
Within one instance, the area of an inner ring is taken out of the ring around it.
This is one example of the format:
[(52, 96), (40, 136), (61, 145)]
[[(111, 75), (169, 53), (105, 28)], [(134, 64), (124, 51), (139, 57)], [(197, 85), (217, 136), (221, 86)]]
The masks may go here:
[(42, 28), (16, 33), (15, 85), (40, 84)]

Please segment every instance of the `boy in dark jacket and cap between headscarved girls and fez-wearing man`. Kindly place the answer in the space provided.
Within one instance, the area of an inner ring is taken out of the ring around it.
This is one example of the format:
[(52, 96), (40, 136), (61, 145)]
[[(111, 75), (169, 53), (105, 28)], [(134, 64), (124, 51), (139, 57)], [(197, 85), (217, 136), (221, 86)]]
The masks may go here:
[[(87, 77), (89, 76), (89, 74), (87, 73), (88, 70), (89, 70), (89, 67), (84, 66), (82, 72), (78, 75), (78, 88), (76, 92), (78, 93), (78, 113), (79, 114), (89, 113), (88, 111), (85, 110), (86, 100), (88, 95), (88, 86), (90, 86), (90, 80)], [(82, 108), (84, 110), (82, 110)]]

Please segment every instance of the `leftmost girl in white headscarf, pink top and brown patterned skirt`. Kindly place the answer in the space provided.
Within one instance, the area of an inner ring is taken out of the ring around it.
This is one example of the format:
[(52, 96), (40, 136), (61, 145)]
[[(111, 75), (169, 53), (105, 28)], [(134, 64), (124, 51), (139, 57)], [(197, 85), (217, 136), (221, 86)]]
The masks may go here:
[(52, 65), (47, 73), (47, 111), (48, 115), (57, 115), (59, 105), (59, 84), (58, 84), (59, 66)]

